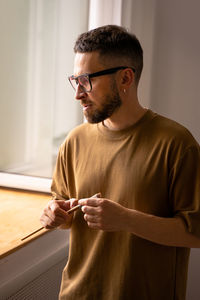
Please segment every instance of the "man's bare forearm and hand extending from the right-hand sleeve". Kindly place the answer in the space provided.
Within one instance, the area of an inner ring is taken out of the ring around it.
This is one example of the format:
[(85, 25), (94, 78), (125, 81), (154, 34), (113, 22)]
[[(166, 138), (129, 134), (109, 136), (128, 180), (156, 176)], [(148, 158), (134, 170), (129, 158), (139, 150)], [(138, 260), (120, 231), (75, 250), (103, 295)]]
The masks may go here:
[(178, 216), (158, 217), (104, 198), (81, 199), (78, 203), (90, 228), (126, 231), (165, 246), (200, 248), (199, 237), (189, 233)]

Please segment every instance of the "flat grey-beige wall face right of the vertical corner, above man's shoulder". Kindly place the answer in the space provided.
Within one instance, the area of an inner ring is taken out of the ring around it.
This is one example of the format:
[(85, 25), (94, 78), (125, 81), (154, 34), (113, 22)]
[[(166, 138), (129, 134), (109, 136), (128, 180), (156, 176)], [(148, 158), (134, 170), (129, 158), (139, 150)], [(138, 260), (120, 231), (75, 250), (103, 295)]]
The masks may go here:
[(200, 142), (199, 12), (198, 0), (157, 1), (150, 106)]

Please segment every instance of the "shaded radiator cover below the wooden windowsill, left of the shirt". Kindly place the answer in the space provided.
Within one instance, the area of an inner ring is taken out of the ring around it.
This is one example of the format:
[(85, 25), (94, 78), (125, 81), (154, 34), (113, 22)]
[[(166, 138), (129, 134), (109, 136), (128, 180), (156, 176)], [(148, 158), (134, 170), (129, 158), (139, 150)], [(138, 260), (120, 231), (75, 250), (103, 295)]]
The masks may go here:
[(69, 232), (53, 230), (0, 260), (0, 300), (57, 300)]

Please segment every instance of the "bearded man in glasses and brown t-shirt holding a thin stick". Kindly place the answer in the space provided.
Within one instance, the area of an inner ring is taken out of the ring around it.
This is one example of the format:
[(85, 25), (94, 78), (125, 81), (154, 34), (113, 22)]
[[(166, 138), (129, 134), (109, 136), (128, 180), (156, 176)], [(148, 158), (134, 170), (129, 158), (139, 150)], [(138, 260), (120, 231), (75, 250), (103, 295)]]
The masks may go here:
[(183, 300), (189, 248), (200, 247), (199, 145), (140, 105), (134, 35), (103, 26), (74, 50), (69, 80), (88, 123), (61, 145), (55, 200), (41, 217), (46, 228), (71, 227), (60, 299)]

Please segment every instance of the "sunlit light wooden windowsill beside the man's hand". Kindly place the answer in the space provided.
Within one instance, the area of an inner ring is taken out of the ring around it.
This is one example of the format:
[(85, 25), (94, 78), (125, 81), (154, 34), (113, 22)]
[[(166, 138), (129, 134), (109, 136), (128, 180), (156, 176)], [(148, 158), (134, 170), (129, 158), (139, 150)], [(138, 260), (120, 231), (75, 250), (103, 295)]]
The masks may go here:
[(21, 241), (41, 227), (39, 218), (50, 199), (49, 193), (0, 188), (0, 258), (49, 231), (42, 229)]

